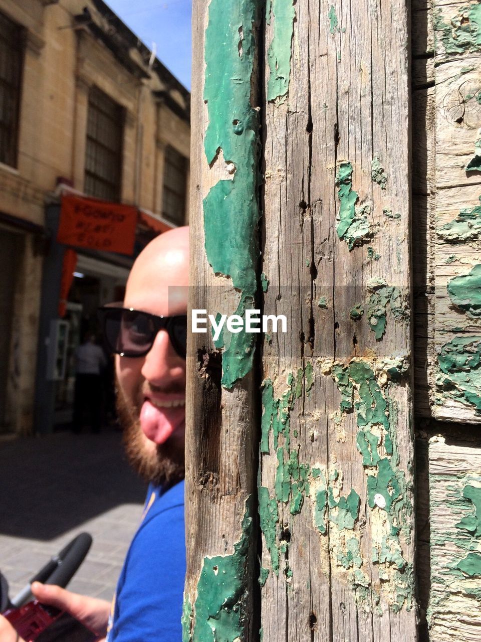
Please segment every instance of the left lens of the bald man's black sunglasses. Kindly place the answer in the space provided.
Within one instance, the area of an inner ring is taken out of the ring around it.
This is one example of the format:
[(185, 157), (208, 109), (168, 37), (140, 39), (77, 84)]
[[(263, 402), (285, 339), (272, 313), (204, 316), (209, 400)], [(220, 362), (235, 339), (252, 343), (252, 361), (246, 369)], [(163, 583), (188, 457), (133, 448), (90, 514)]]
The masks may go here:
[(149, 351), (155, 337), (151, 318), (135, 310), (109, 310), (105, 317), (105, 338), (113, 352), (140, 356)]

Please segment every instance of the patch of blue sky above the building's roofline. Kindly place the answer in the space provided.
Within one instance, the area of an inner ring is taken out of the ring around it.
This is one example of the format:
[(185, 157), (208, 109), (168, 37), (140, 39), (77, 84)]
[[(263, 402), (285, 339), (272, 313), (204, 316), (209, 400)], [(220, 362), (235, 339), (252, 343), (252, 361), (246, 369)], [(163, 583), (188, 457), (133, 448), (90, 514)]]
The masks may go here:
[(105, 0), (112, 11), (190, 89), (191, 0)]

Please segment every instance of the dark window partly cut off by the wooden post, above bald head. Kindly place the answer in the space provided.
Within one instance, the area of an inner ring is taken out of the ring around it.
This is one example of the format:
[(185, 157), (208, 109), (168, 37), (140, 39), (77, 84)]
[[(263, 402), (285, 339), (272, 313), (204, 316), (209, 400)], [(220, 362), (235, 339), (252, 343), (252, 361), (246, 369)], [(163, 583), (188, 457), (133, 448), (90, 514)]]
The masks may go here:
[(162, 215), (177, 225), (185, 220), (185, 189), (187, 186), (188, 161), (173, 147), (165, 150), (164, 196)]

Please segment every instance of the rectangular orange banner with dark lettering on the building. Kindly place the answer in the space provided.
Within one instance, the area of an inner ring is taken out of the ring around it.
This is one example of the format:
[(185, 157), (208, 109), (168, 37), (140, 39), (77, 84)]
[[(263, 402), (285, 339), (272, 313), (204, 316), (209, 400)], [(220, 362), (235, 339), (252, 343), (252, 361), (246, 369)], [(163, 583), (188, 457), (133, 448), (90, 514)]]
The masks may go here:
[(138, 215), (130, 205), (62, 196), (57, 241), (131, 256)]

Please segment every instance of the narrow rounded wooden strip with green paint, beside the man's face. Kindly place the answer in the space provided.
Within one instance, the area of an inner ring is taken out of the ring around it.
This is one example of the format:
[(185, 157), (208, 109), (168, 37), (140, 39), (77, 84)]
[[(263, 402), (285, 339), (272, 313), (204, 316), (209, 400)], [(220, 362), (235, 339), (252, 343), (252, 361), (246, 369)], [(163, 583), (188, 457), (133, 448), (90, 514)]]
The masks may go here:
[[(189, 318), (192, 308), (232, 315), (255, 287), (258, 4), (232, 3), (225, 12), (219, 0), (194, 2)], [(222, 372), (210, 326), (208, 334), (189, 332), (184, 640), (257, 639), (257, 394), (246, 365), (253, 348), (242, 340), (239, 359), (230, 351), (228, 375), (229, 349)]]

